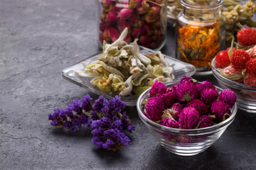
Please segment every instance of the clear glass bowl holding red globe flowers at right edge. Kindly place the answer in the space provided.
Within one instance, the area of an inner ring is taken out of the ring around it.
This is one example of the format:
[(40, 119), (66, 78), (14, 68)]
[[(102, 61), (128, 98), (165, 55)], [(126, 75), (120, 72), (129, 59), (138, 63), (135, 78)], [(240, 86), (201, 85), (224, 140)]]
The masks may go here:
[[(216, 68), (215, 58), (211, 62), (212, 66)], [(215, 69), (212, 69), (213, 76), (218, 80), (220, 87), (223, 89), (231, 89), (237, 95), (238, 108), (247, 113), (256, 113), (256, 86), (241, 84), (232, 81), (220, 75)]]

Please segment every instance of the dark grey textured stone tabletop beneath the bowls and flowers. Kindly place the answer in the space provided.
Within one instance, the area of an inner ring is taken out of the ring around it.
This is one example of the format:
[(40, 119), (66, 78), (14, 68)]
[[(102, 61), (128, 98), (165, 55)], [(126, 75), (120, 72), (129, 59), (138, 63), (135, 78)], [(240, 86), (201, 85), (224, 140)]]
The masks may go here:
[[(95, 149), (86, 128), (49, 125), (48, 113), (89, 93), (61, 71), (98, 52), (94, 0), (0, 0), (0, 169), (256, 169), (256, 115), (238, 110), (210, 148), (193, 157), (167, 152), (127, 108), (132, 146)], [(174, 56), (169, 26), (162, 52)], [(213, 76), (194, 77), (216, 80)]]

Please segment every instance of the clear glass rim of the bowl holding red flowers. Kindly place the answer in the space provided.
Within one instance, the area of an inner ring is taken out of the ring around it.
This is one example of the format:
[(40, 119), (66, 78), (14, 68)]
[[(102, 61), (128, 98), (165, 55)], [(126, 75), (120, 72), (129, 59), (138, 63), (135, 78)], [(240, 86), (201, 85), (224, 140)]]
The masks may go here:
[[(213, 58), (211, 64), (213, 67), (215, 67), (215, 57)], [(241, 83), (238, 83), (236, 81), (232, 81), (228, 78), (225, 78), (223, 77), (222, 75), (220, 75), (215, 69), (212, 68), (212, 71), (213, 71), (213, 75), (215, 75), (215, 77), (220, 80), (220, 81), (223, 81), (223, 83), (225, 84), (228, 84), (230, 86), (233, 86), (233, 87), (236, 87), (236, 88), (239, 88), (241, 90), (247, 90), (247, 91), (256, 91), (256, 86), (252, 86), (252, 85), (247, 85), (247, 84), (241, 84)]]

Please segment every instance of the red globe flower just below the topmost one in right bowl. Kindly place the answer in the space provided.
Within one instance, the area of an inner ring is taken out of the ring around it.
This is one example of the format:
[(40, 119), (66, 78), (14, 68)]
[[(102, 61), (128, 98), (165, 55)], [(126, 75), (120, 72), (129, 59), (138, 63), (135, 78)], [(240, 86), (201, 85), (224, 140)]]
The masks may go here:
[(231, 55), (231, 64), (236, 69), (245, 69), (245, 64), (248, 60), (250, 60), (250, 55), (245, 50), (235, 50), (233, 55)]

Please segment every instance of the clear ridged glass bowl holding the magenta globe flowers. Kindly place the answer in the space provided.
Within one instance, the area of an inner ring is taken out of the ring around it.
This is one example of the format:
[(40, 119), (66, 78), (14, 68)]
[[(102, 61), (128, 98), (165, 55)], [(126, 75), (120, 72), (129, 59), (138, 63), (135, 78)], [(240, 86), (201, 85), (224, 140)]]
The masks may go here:
[[(171, 87), (177, 83), (178, 81), (174, 81), (166, 84), (166, 86)], [(217, 89), (218, 91), (222, 91), (222, 89), (219, 87), (217, 87)], [(231, 108), (230, 118), (208, 128), (190, 130), (169, 128), (164, 125), (154, 123), (154, 121), (149, 120), (149, 118), (146, 118), (144, 115), (142, 102), (147, 97), (146, 95), (148, 92), (149, 89), (144, 91), (144, 93), (139, 96), (137, 101), (139, 118), (141, 118), (142, 122), (146, 124), (149, 132), (156, 137), (156, 139), (160, 142), (160, 145), (162, 145), (169, 152), (182, 156), (192, 156), (198, 154), (205, 151), (208, 147), (210, 147), (210, 145), (213, 145), (213, 143), (223, 134), (226, 128), (228, 128), (228, 125), (233, 122), (238, 111), (235, 103), (233, 108)]]

